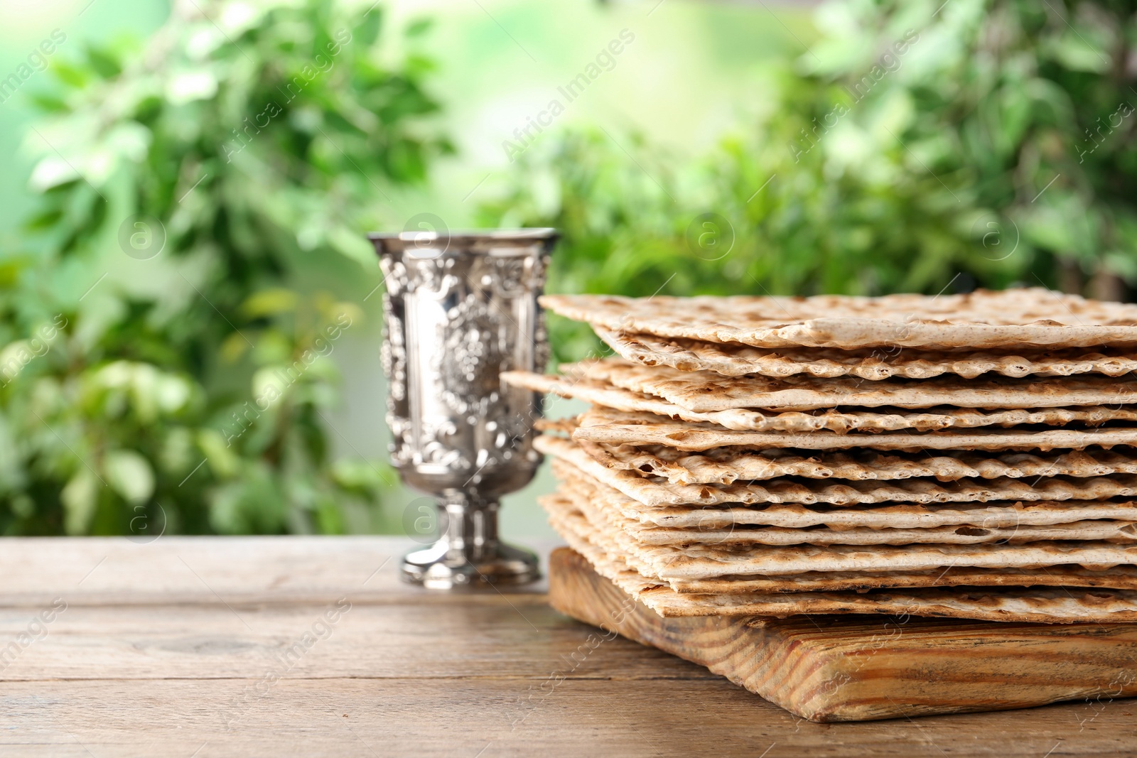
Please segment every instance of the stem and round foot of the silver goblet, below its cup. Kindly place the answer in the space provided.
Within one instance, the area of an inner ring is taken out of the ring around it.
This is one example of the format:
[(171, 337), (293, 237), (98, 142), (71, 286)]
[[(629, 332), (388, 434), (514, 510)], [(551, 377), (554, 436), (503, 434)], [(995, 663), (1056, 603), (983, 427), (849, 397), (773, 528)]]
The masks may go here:
[(430, 589), (524, 584), (540, 576), (537, 556), (498, 540), (497, 500), (468, 492), (439, 498), (438, 542), (407, 553), (402, 577)]

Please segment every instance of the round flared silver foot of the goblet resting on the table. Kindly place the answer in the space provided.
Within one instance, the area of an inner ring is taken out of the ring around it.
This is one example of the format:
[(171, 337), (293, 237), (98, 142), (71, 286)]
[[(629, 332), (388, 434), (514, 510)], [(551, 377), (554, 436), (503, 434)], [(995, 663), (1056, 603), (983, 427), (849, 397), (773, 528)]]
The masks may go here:
[(496, 542), (480, 545), (476, 552), (467, 556), (440, 540), (402, 558), (402, 580), (430, 590), (457, 590), (528, 584), (541, 576), (538, 558), (529, 550)]

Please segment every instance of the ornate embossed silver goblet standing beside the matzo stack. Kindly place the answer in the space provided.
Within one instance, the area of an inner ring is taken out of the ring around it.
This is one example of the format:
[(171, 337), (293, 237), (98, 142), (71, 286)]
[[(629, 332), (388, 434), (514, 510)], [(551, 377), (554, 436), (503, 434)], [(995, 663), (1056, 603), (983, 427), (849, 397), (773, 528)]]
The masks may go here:
[(391, 458), (438, 499), (439, 539), (402, 577), (429, 588), (521, 584), (537, 556), (498, 540), (498, 499), (533, 478), (541, 399), (505, 370), (543, 370), (550, 228), (372, 234), (387, 283), (383, 368)]

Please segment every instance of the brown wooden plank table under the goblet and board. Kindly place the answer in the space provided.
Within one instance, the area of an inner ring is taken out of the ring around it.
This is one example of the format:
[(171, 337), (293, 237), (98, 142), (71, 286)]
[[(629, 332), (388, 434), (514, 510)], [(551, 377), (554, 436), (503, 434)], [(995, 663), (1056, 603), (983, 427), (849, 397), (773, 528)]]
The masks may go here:
[[(0, 756), (1123, 756), (1137, 701), (819, 725), (392, 538), (7, 540)], [(545, 545), (546, 548), (548, 545)]]

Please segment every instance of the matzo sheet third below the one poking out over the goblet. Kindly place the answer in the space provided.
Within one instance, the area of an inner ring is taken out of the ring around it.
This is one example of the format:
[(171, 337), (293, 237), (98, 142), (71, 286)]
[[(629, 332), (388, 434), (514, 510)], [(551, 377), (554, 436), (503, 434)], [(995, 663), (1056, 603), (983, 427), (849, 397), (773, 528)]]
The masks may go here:
[(626, 470), (605, 468), (570, 440), (539, 436), (533, 447), (556, 456), (646, 506), (713, 506), (722, 503), (800, 502), (853, 506), (879, 502), (986, 502), (988, 500), (1103, 500), (1137, 495), (1137, 476), (1119, 474), (1067, 478), (1052, 476), (1035, 483), (1011, 478), (902, 480), (843, 483), (796, 481), (789, 477), (733, 484), (672, 484)]

